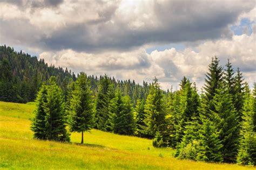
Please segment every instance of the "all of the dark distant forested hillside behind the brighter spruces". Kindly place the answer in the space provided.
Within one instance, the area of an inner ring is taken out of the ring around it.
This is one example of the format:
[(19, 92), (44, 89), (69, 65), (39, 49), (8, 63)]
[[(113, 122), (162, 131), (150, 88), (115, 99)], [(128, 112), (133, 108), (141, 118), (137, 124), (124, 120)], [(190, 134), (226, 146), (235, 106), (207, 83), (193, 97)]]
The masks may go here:
[[(51, 76), (55, 76), (58, 86), (62, 89), (65, 100), (72, 82), (76, 81), (75, 75), (68, 68), (48, 65), (44, 59), (38, 61), (36, 56), (31, 56), (22, 51), (16, 52), (14, 48), (0, 46), (0, 101), (26, 103), (34, 101), (42, 84), (49, 83)], [(96, 94), (99, 80), (107, 76), (88, 76), (93, 94)], [(149, 93), (149, 84), (143, 86), (131, 80), (119, 81), (107, 77), (110, 83), (116, 87), (122, 87), (122, 93), (129, 94), (132, 103), (137, 99), (146, 98)]]

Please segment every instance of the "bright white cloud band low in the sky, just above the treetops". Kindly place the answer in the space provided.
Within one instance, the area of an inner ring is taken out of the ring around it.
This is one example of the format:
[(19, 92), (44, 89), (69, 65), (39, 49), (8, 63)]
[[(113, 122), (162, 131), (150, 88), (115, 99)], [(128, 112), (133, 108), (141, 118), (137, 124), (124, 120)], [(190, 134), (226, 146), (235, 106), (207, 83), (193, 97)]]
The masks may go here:
[(139, 83), (156, 76), (164, 89), (170, 88), (171, 84), (178, 88), (183, 76), (202, 87), (208, 65), (215, 55), (220, 59), (221, 65), (225, 66), (227, 59), (230, 59), (234, 69), (240, 67), (246, 81), (255, 81), (255, 43), (254, 32), (250, 36), (242, 34), (228, 40), (206, 41), (196, 47), (197, 52), (192, 48), (185, 48), (183, 51), (170, 48), (147, 54), (145, 49), (140, 48), (130, 52), (93, 54), (68, 49), (58, 53), (44, 52), (40, 54), (40, 58), (56, 66), (71, 68), (76, 73), (107, 73), (117, 79), (134, 79)]

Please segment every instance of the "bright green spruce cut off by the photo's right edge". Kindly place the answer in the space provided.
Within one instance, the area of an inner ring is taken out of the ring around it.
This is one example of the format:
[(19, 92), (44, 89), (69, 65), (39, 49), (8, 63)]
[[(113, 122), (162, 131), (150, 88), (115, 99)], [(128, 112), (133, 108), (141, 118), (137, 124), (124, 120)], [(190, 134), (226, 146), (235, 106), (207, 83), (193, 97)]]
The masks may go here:
[(237, 157), (238, 164), (256, 165), (255, 92), (255, 84), (254, 97), (250, 94), (248, 85), (245, 86), (245, 102), (242, 111), (242, 129), (240, 132), (241, 138)]

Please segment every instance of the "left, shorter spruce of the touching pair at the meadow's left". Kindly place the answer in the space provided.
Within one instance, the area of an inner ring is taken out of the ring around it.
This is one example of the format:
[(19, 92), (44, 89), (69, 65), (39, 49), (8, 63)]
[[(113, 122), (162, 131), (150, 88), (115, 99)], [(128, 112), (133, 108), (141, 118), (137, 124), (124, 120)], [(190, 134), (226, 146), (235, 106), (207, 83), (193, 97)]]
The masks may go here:
[(45, 103), (47, 96), (47, 88), (43, 84), (40, 90), (38, 91), (36, 98), (36, 110), (35, 110), (35, 118), (32, 119), (31, 130), (34, 132), (34, 137), (36, 139), (46, 139), (46, 112), (45, 112)]

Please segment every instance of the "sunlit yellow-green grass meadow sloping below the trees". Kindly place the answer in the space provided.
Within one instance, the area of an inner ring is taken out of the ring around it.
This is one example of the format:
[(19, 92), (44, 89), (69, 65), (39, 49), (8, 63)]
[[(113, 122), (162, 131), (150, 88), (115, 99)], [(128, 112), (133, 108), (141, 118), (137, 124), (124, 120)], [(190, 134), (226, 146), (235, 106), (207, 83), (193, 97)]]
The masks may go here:
[[(207, 164), (172, 157), (171, 148), (154, 148), (152, 140), (92, 130), (72, 133), (72, 143), (32, 139), (35, 105), (0, 102), (0, 168), (8, 169), (253, 169)], [(159, 156), (161, 155), (161, 156)]]

